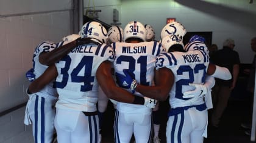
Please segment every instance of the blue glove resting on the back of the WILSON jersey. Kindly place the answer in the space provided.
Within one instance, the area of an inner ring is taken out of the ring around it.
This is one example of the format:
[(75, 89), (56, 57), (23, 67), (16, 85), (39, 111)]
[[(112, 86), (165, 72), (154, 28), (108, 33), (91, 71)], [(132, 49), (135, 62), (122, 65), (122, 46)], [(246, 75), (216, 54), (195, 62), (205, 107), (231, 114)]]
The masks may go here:
[(120, 73), (116, 73), (116, 82), (119, 85), (119, 87), (136, 90), (136, 87), (138, 85), (138, 82), (130, 76), (128, 70), (123, 70), (124, 75), (121, 75)]

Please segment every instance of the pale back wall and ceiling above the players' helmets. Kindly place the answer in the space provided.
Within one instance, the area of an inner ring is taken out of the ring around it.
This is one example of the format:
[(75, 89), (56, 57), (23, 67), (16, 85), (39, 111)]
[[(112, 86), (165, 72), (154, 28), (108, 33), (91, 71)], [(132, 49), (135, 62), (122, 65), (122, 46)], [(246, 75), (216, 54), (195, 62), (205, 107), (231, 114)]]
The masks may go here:
[[(110, 24), (112, 19), (109, 5), (119, 6), (118, 1), (95, 0), (96, 8), (104, 13), (101, 21)], [(100, 5), (100, 6), (98, 6)], [(213, 32), (212, 43), (222, 48), (226, 38), (235, 40), (235, 50), (240, 54), (241, 63), (251, 63), (254, 53), (250, 48), (251, 38), (256, 36), (256, 2), (249, 4), (241, 0), (121, 0), (119, 15), (122, 27), (129, 21), (151, 24), (156, 31), (156, 39), (166, 24), (166, 18), (176, 18), (185, 25), (188, 32)], [(109, 16), (106, 16), (109, 15)]]

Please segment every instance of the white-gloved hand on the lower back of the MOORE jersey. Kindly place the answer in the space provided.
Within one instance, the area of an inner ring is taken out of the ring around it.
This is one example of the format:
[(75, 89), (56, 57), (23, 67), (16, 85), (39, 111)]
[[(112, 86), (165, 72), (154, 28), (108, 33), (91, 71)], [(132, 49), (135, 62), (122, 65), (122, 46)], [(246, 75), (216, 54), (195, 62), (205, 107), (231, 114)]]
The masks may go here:
[(195, 89), (184, 92), (182, 98), (194, 98), (194, 97), (200, 98), (207, 93), (207, 87), (205, 87), (205, 85), (190, 84), (190, 86), (195, 87)]

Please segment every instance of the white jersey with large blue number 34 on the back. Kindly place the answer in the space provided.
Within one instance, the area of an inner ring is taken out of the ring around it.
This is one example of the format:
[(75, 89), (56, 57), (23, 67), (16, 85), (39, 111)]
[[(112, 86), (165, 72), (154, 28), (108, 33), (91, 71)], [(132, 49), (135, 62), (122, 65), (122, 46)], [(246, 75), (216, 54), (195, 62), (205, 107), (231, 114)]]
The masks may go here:
[(114, 52), (108, 45), (79, 45), (56, 63), (56, 107), (66, 110), (96, 111), (98, 81), (96, 71), (104, 61), (113, 61)]

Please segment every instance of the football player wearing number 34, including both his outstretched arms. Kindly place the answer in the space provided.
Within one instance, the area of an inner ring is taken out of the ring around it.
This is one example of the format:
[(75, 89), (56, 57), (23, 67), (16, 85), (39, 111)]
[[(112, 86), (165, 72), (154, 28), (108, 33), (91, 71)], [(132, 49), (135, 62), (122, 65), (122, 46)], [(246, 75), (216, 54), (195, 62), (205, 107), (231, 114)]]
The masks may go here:
[[(111, 47), (102, 44), (106, 42), (107, 31), (99, 22), (87, 22), (80, 36), (88, 38), (88, 43), (77, 46), (59, 62), (52, 61), (57, 63), (41, 76), (45, 83), (57, 77), (59, 99), (55, 105), (54, 126), (58, 142), (98, 142), (98, 85), (108, 98), (116, 101), (149, 107), (155, 105), (148, 98), (133, 96), (116, 86), (112, 77), (115, 55)], [(39, 79), (35, 79), (32, 84), (38, 82)], [(32, 84), (30, 87), (33, 87)], [(28, 93), (38, 90), (30, 87)]]

